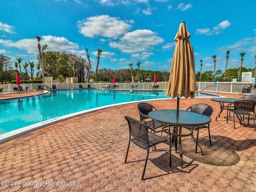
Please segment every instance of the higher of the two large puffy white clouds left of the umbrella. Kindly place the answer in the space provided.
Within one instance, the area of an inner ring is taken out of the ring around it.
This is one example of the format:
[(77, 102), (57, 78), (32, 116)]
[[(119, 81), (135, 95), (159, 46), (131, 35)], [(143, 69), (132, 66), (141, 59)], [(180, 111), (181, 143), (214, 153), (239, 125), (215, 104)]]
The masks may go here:
[(79, 32), (86, 37), (103, 36), (118, 38), (118, 36), (128, 32), (131, 25), (120, 20), (118, 17), (100, 15), (78, 21), (78, 28)]

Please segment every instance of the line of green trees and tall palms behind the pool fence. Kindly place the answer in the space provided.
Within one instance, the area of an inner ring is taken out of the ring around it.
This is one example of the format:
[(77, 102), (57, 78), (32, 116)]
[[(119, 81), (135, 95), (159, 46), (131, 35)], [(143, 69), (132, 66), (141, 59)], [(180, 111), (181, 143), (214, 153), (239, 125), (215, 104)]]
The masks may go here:
[[(78, 82), (90, 82), (90, 79), (98, 82), (111, 82), (113, 76), (115, 76), (117, 82), (124, 81), (132, 81), (132, 76), (134, 80), (137, 82), (152, 82), (154, 78), (154, 74), (156, 74), (158, 81), (168, 81), (170, 72), (167, 70), (162, 71), (152, 71), (152, 70), (140, 70), (141, 62), (137, 62), (135, 65), (130, 63), (128, 64), (128, 69), (120, 69), (120, 70), (112, 70), (112, 69), (98, 69), (100, 55), (102, 54), (102, 49), (98, 48), (97, 50), (97, 65), (96, 70), (92, 71), (90, 56), (88, 48), (86, 48), (86, 58), (82, 56), (77, 56), (75, 54), (70, 54), (66, 52), (56, 52), (56, 51), (46, 51), (48, 45), (40, 45), (40, 36), (36, 36), (38, 40), (38, 62), (35, 64), (33, 61), (22, 63), (22, 58), (16, 58), (16, 62), (14, 66), (16, 70), (12, 69), (12, 60), (8, 56), (4, 56), (0, 54), (0, 81), (2, 82), (10, 82), (11, 80), (15, 80), (15, 74), (20, 76), (21, 80), (42, 80), (44, 83), (44, 77), (53, 77), (53, 79), (59, 79), (60, 82), (67, 77), (77, 77)], [(242, 67), (243, 57), (246, 54), (245, 52), (240, 53), (241, 64), (240, 68), (228, 69), (228, 57), (230, 54), (230, 50), (226, 51), (226, 68), (224, 74), (222, 70), (216, 69), (216, 55), (212, 55), (212, 59), (214, 62), (213, 71), (206, 71), (202, 73), (202, 60), (200, 60), (200, 72), (196, 73), (197, 80), (209, 80), (209, 79), (224, 79), (230, 80), (230, 78), (234, 78), (238, 76), (238, 80), (240, 78), (240, 74), (242, 72), (253, 72), (254, 77), (256, 77), (256, 68), (244, 68)], [(256, 54), (254, 56), (256, 60)], [(255, 62), (256, 65), (256, 62)], [(134, 66), (137, 66), (134, 69)], [(36, 69), (35, 69), (36, 68)], [(42, 70), (43, 69), (43, 70)], [(36, 71), (35, 71), (36, 70)], [(34, 76), (36, 72), (36, 76)], [(148, 79), (148, 80), (145, 80)]]

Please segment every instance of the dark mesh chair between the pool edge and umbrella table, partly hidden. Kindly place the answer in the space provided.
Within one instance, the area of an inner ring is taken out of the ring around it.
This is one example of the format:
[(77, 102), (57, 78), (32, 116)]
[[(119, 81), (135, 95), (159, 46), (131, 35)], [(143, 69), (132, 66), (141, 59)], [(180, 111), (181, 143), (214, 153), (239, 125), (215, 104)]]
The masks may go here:
[[(148, 113), (153, 111), (154, 110), (157, 110), (154, 106), (152, 106), (151, 104), (149, 103), (139, 103), (137, 105), (137, 109), (139, 111), (139, 114), (140, 114), (140, 120), (145, 120), (145, 119), (150, 119), (148, 117)], [(153, 129), (156, 129), (156, 128), (160, 128), (160, 127), (163, 127), (165, 126), (166, 124), (164, 123), (160, 123), (160, 122), (157, 122), (157, 121), (154, 121), (154, 120), (148, 120), (146, 121), (146, 124), (150, 127), (152, 127)]]

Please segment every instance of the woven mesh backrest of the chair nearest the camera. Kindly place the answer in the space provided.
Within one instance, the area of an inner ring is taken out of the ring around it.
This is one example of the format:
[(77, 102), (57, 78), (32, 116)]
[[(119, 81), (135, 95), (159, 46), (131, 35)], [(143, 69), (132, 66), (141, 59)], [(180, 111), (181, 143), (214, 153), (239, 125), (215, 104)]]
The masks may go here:
[(124, 117), (129, 126), (129, 133), (134, 138), (148, 144), (148, 126), (132, 117)]

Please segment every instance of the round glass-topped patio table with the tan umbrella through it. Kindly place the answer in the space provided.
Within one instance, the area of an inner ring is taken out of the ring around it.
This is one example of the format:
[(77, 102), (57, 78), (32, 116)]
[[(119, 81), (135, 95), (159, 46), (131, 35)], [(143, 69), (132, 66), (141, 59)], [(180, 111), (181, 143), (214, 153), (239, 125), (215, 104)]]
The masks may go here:
[[(182, 126), (200, 126), (206, 125), (211, 122), (211, 118), (206, 115), (201, 115), (191, 111), (179, 110), (179, 115), (176, 115), (177, 110), (155, 110), (148, 113), (148, 116), (155, 121), (162, 122), (165, 124), (175, 125), (178, 129), (177, 134), (172, 134), (178, 137), (179, 140), (179, 153), (180, 153), (180, 167), (183, 168), (183, 156), (182, 156), (182, 145), (181, 138), (191, 136), (189, 134), (182, 134)], [(171, 142), (171, 141), (170, 141)], [(177, 151), (177, 143), (175, 143), (175, 152)]]

